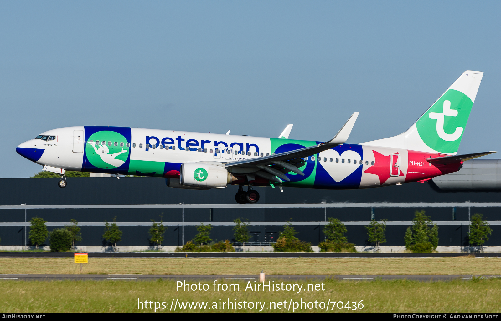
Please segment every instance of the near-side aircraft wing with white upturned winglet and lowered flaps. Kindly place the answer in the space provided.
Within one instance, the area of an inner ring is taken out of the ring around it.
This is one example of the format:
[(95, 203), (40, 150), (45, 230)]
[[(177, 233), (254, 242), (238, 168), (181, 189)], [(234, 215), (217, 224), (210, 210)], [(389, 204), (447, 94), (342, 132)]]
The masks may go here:
[[(279, 154), (252, 159), (230, 161), (225, 164), (225, 168), (230, 172), (239, 173), (244, 173), (244, 168), (248, 168), (249, 172), (256, 172), (257, 169), (263, 169), (266, 171), (267, 175), (263, 174), (260, 176), (266, 176), (265, 178), (272, 179), (271, 175), (275, 175), (281, 177), (284, 180), (289, 180), (289, 178), (287, 178), (284, 173), (294, 171), (298, 174), (303, 174), (298, 168), (303, 166), (303, 162), (305, 161), (301, 158), (310, 157), (316, 153), (330, 149), (334, 146), (342, 145), (350, 136), (350, 132), (353, 129), (353, 125), (357, 120), (358, 114), (358, 111), (354, 112), (343, 125), (343, 127), (339, 129), (338, 133), (329, 141), (322, 142), (318, 145), (282, 152)], [(259, 172), (256, 173), (259, 175)]]

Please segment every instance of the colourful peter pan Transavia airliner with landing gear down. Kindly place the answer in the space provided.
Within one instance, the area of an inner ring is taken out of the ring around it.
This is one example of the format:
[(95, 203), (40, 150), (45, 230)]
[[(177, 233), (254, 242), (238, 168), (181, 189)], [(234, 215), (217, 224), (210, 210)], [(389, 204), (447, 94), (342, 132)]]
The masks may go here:
[[(238, 185), (237, 203), (256, 203), (255, 186), (358, 189), (424, 182), (458, 171), (464, 160), (495, 151), (457, 155), (481, 71), (464, 71), (405, 132), (345, 143), (359, 112), (328, 141), (116, 126), (72, 126), (45, 131), (16, 151), (43, 169), (165, 177), (174, 188), (206, 190)], [(243, 190), (247, 186), (247, 190)]]

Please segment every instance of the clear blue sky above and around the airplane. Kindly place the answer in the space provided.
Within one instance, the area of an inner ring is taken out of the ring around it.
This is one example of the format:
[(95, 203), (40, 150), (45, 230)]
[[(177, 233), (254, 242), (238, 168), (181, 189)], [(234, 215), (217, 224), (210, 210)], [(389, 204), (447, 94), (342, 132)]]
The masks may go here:
[[(459, 153), (501, 150), (499, 1), (0, 1), (0, 177), (42, 131), (117, 125), (348, 142), (484, 71)], [(501, 158), (501, 154), (490, 158)]]

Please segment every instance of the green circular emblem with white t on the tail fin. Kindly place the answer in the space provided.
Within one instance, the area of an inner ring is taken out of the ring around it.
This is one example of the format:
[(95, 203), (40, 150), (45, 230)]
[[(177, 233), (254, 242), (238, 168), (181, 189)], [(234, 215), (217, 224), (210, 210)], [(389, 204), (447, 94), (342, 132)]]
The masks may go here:
[(456, 152), (472, 106), (464, 93), (447, 90), (416, 122), (419, 136), (438, 152)]

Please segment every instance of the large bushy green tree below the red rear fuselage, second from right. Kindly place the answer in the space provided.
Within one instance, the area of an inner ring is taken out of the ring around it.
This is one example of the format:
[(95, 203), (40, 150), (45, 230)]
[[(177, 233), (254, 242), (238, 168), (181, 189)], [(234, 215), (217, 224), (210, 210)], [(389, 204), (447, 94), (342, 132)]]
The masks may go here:
[(438, 246), (438, 225), (424, 213), (416, 210), (412, 226), (405, 231), (405, 247), (414, 252), (431, 252)]

